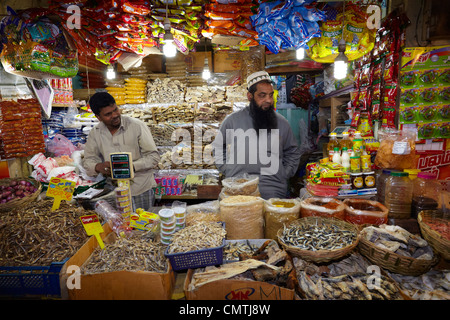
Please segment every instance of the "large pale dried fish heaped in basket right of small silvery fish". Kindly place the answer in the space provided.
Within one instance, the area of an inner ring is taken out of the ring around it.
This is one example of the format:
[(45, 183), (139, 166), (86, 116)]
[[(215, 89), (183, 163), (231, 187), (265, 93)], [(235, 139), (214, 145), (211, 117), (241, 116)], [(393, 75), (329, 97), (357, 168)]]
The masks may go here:
[(361, 236), (380, 248), (402, 256), (425, 260), (433, 259), (433, 249), (428, 242), (400, 226), (383, 224), (379, 227), (366, 227), (361, 231)]

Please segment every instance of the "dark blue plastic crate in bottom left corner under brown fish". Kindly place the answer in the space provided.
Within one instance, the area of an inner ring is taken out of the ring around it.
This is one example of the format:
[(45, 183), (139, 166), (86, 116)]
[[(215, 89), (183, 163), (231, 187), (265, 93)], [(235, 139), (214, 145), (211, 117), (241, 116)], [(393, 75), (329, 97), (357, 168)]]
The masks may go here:
[(0, 267), (0, 296), (61, 296), (59, 273), (64, 262), (48, 267)]

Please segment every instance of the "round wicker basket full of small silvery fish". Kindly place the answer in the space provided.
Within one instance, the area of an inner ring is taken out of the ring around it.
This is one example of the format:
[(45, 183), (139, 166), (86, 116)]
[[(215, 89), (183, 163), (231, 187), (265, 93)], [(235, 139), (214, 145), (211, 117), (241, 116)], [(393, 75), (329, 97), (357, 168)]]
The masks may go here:
[(293, 256), (323, 263), (349, 254), (359, 241), (356, 226), (336, 218), (305, 217), (280, 228), (278, 242)]

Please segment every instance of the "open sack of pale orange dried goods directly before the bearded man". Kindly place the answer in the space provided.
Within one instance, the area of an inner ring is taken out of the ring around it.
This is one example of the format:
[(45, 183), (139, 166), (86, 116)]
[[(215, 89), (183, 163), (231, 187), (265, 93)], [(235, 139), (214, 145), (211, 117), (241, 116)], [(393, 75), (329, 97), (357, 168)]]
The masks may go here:
[(231, 196), (220, 201), (220, 218), (227, 239), (263, 239), (264, 200), (252, 196)]

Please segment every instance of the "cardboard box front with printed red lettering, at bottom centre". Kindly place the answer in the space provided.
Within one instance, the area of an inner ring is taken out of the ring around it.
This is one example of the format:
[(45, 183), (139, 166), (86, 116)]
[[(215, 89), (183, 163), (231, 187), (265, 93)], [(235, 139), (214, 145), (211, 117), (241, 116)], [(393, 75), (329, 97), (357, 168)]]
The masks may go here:
[(186, 300), (294, 300), (294, 290), (282, 288), (267, 282), (245, 280), (219, 280), (206, 283), (189, 291), (194, 274), (189, 269), (184, 283)]

